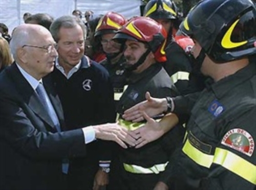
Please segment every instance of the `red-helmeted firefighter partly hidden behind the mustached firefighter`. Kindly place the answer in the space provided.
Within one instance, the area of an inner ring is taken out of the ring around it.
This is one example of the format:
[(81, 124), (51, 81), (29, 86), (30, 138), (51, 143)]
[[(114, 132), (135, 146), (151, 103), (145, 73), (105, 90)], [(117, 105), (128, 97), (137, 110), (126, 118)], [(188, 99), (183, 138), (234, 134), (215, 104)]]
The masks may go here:
[(126, 19), (119, 13), (108, 12), (98, 22), (94, 37), (99, 40), (106, 58), (99, 62), (110, 73), (114, 87), (114, 99), (117, 104), (126, 85), (123, 56), (124, 46), (112, 40), (117, 31), (126, 23)]

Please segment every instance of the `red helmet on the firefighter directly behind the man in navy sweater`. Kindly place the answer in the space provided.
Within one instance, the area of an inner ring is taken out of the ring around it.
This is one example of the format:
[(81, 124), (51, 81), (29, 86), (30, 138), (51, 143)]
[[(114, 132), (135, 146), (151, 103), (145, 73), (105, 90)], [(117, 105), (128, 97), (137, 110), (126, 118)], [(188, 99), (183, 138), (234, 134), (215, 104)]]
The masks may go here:
[(122, 15), (115, 12), (108, 12), (99, 20), (94, 36), (116, 33), (125, 23), (126, 20)]

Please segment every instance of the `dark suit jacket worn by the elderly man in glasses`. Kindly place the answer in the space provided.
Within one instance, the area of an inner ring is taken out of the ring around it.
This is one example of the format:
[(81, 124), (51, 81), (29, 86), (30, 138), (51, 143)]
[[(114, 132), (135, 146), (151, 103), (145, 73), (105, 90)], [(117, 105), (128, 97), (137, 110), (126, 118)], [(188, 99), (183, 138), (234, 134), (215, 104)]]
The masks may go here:
[[(63, 129), (59, 99), (44, 86)], [(39, 101), (16, 64), (0, 74), (0, 189), (62, 189), (62, 158), (86, 154), (82, 130), (57, 133)]]

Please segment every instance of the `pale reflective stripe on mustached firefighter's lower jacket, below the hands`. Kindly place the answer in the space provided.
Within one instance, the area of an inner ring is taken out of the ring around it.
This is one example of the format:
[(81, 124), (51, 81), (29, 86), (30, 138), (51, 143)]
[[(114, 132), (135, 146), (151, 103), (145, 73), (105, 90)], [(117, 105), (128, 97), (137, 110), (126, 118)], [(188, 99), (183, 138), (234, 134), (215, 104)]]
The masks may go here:
[(165, 170), (165, 167), (167, 166), (168, 161), (165, 164), (158, 164), (154, 165), (151, 168), (143, 168), (141, 166), (137, 165), (129, 165), (129, 164), (123, 164), (124, 169), (127, 172), (136, 173), (136, 174), (159, 174), (160, 172), (163, 172)]

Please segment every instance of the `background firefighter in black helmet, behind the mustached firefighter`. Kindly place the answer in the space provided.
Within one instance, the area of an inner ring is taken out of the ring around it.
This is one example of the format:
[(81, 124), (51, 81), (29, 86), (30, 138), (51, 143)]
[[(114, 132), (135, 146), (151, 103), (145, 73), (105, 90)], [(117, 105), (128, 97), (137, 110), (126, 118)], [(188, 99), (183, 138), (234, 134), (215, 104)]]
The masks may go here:
[(194, 92), (196, 84), (189, 84), (189, 73), (193, 66), (189, 60), (189, 53), (194, 42), (187, 36), (176, 36), (181, 18), (178, 16), (175, 3), (170, 0), (151, 0), (146, 4), (143, 14), (161, 23), (168, 34), (165, 48), (167, 61), (164, 68), (180, 94)]

